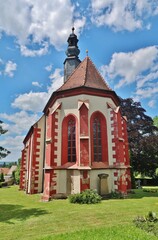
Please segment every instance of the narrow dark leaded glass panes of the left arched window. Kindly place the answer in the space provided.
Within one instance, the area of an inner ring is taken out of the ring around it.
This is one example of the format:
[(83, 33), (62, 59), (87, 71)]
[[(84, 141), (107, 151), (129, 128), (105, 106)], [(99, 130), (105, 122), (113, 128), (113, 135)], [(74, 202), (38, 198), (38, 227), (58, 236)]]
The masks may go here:
[(75, 120), (68, 121), (68, 162), (76, 162), (76, 124)]

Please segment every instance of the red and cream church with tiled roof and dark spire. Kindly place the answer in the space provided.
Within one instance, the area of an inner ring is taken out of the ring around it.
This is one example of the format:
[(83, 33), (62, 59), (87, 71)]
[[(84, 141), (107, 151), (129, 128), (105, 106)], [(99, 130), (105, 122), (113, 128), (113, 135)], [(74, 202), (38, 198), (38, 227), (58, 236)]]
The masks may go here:
[(63, 85), (23, 143), (20, 189), (42, 200), (95, 189), (106, 195), (131, 188), (127, 120), (120, 99), (92, 60), (79, 59), (72, 28)]

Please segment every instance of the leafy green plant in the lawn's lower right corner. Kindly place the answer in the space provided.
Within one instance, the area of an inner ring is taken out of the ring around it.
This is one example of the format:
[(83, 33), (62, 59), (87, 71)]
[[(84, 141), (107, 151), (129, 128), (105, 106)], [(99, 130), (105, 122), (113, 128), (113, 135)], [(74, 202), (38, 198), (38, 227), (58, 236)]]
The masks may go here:
[(138, 216), (134, 219), (134, 223), (136, 227), (158, 236), (158, 218), (155, 212), (150, 211), (147, 216), (144, 217)]

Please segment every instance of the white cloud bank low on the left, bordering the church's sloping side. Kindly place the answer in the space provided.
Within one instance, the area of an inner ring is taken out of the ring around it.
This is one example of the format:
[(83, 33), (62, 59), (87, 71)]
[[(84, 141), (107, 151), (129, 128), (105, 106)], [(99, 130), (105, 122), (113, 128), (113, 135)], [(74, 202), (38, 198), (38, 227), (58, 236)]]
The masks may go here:
[[(49, 78), (51, 83), (47, 92), (29, 92), (19, 95), (14, 100), (12, 107), (19, 108), (20, 112), (0, 114), (0, 119), (5, 122), (3, 127), (8, 130), (3, 139), (1, 138), (0, 145), (11, 151), (5, 161), (16, 161), (21, 156), (24, 135), (41, 116), (39, 112), (43, 110), (51, 94), (63, 84), (62, 70), (56, 69)], [(34, 85), (38, 85), (38, 82), (34, 82)], [(16, 137), (13, 137), (14, 135)]]

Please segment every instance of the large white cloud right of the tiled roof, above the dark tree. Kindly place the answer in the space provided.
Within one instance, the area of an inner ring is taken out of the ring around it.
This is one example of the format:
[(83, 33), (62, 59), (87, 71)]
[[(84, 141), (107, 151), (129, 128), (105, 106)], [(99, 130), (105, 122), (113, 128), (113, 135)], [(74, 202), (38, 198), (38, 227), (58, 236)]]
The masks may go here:
[[(158, 48), (156, 46), (146, 47), (135, 52), (114, 53), (109, 65), (101, 67), (107, 78), (116, 79), (116, 88), (137, 82), (138, 86), (144, 80), (144, 71), (150, 71), (146, 78), (151, 78), (150, 74), (154, 69), (155, 61), (158, 61)], [(157, 71), (154, 71), (157, 74)], [(143, 78), (143, 79), (142, 79)], [(152, 76), (152, 78), (155, 78)]]

